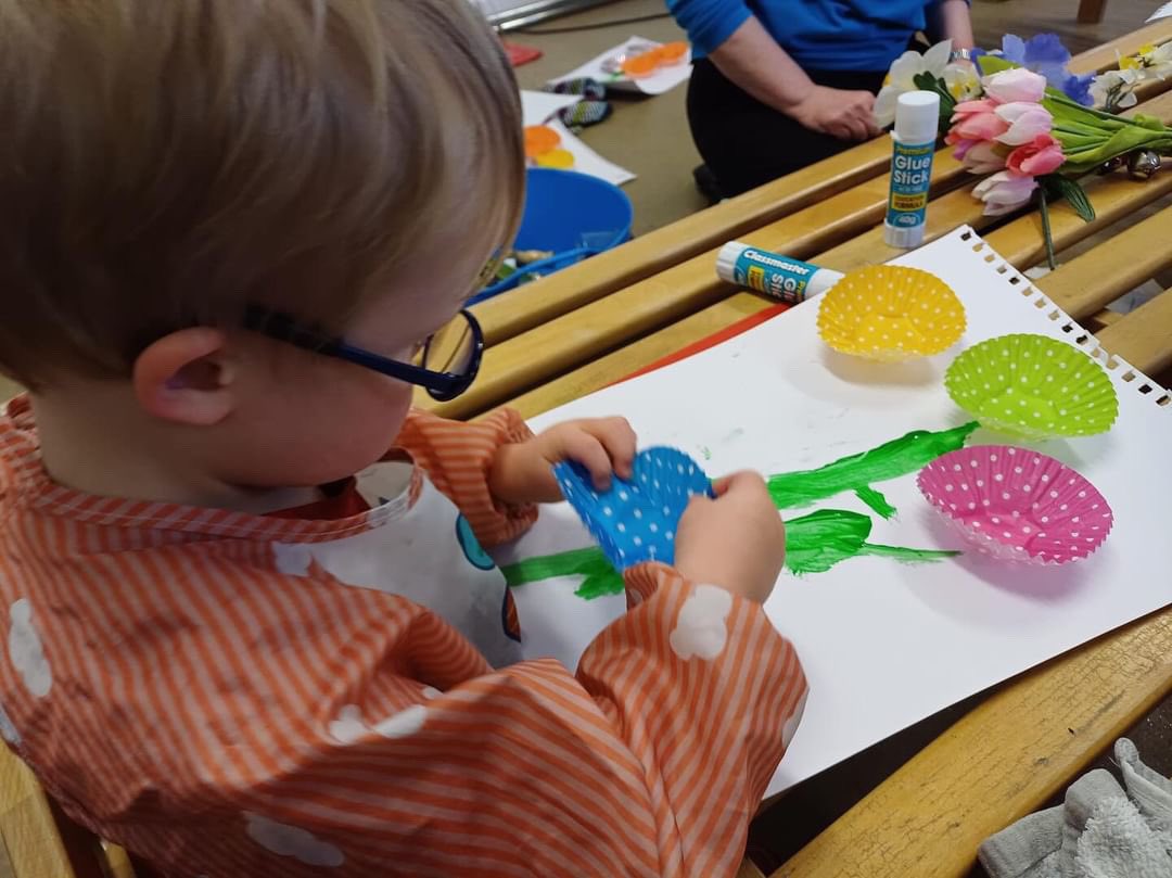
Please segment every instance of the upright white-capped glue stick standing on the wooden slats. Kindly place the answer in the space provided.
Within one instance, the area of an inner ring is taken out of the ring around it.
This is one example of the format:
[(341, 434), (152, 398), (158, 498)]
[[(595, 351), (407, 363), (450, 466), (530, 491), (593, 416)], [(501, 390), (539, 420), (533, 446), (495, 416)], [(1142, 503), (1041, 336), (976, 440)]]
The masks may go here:
[(932, 183), (932, 158), (936, 154), (940, 95), (907, 91), (895, 106), (895, 142), (891, 158), (891, 197), (884, 240), (892, 247), (918, 247), (924, 243)]

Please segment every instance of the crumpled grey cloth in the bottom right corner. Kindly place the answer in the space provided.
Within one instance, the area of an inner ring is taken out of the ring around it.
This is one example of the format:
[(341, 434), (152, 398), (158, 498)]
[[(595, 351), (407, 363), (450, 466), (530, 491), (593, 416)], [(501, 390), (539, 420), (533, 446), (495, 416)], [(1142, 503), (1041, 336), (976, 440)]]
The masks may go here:
[(1096, 769), (1063, 804), (987, 838), (979, 856), (992, 878), (1172, 878), (1172, 782), (1125, 737), (1115, 756), (1123, 785)]

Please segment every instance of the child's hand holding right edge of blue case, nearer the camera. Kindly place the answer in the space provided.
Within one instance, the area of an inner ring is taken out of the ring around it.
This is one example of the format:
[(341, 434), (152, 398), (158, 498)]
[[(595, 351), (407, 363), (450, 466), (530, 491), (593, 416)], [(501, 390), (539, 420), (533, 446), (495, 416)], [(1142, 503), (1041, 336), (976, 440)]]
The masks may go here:
[(765, 481), (737, 472), (693, 497), (675, 536), (675, 567), (695, 583), (764, 604), (785, 563), (785, 525)]

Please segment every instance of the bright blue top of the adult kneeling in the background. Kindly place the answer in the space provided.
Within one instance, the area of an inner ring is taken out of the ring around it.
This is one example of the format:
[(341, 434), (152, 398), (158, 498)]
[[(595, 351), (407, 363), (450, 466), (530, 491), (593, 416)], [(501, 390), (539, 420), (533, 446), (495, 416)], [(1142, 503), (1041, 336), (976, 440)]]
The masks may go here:
[(811, 70), (886, 70), (942, 0), (667, 0), (703, 57), (750, 15)]

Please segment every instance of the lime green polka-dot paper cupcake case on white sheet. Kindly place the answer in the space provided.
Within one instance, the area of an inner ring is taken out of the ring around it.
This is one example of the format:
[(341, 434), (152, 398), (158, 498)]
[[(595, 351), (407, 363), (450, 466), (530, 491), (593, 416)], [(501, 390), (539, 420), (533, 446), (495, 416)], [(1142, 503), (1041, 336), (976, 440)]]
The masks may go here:
[(1110, 430), (1119, 416), (1103, 367), (1047, 335), (982, 341), (956, 358), (945, 386), (984, 427), (1011, 436), (1091, 436)]

